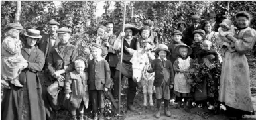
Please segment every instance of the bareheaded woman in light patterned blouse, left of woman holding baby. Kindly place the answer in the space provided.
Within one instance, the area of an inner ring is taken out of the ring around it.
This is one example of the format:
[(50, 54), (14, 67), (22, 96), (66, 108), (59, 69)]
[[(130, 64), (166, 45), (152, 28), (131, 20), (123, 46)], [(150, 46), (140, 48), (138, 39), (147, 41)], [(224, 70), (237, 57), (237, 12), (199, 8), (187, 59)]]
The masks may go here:
[(218, 44), (216, 42), (216, 39), (217, 39), (219, 33), (212, 31), (212, 25), (211, 25), (210, 21), (205, 21), (203, 23), (202, 27), (203, 27), (204, 31), (206, 32), (206, 40), (210, 40), (212, 42), (212, 47), (218, 53), (219, 61), (222, 62), (222, 57), (220, 56), (222, 51), (220, 49), (220, 46), (218, 46)]

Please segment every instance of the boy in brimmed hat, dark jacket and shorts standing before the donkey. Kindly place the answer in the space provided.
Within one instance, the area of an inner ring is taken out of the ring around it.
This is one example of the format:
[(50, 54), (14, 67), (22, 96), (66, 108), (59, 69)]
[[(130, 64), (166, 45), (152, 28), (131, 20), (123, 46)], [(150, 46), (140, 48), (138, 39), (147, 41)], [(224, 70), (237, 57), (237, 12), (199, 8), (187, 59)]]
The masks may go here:
[(172, 62), (166, 59), (167, 55), (170, 55), (168, 47), (164, 44), (159, 44), (159, 48), (155, 50), (155, 54), (159, 57), (153, 60), (152, 64), (147, 67), (147, 72), (155, 72), (155, 80), (153, 85), (156, 90), (157, 98), (157, 113), (155, 117), (160, 117), (160, 105), (162, 98), (164, 99), (164, 113), (170, 117), (169, 100), (170, 100), (170, 89), (173, 88), (174, 75), (172, 69)]

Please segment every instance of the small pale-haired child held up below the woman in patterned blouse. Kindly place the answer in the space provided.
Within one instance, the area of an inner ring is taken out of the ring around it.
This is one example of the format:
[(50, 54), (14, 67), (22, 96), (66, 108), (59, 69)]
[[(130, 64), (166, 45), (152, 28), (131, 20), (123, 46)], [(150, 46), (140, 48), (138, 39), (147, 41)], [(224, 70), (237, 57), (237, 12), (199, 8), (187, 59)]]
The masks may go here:
[(202, 46), (203, 48), (200, 49), (197, 54), (198, 63), (204, 63), (208, 68), (212, 68), (213, 66), (210, 63), (219, 60), (218, 53), (212, 48), (212, 42), (209, 40), (204, 40)]

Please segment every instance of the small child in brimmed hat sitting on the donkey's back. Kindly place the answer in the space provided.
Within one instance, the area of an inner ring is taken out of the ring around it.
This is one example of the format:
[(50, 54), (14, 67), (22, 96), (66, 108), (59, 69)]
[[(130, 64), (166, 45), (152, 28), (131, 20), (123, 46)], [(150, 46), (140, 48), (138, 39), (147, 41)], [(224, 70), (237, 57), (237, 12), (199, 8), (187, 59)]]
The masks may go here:
[(147, 27), (147, 26), (146, 27), (142, 27), (139, 30), (139, 34), (141, 35), (141, 38), (139, 38), (137, 40), (137, 44), (136, 44), (137, 50), (143, 48), (146, 43), (151, 44), (151, 49), (153, 50), (155, 48), (155, 44), (154, 44), (153, 40), (151, 40), (149, 38), (149, 36), (151, 35), (151, 28)]

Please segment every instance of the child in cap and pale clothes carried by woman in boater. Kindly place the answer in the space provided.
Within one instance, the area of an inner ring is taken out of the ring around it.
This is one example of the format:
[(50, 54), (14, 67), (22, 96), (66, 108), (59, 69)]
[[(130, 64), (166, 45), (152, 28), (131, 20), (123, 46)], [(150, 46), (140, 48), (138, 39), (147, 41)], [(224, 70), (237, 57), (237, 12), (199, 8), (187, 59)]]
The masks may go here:
[(16, 23), (9, 23), (5, 27), (7, 36), (1, 44), (1, 84), (6, 88), (10, 88), (9, 82), (23, 87), (19, 82), (19, 74), (29, 65), (21, 55), (22, 42), (19, 40), (19, 33), (22, 29), (21, 25)]

